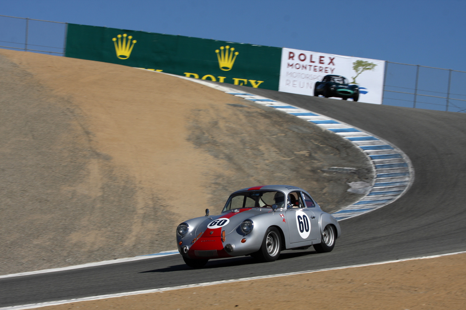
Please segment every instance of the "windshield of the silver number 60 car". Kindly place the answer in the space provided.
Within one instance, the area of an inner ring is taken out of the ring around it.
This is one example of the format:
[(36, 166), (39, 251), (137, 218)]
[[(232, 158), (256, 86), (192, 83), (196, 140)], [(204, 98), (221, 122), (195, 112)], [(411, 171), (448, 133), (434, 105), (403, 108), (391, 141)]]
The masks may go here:
[(228, 198), (223, 211), (241, 208), (283, 208), (285, 195), (281, 191), (243, 191)]

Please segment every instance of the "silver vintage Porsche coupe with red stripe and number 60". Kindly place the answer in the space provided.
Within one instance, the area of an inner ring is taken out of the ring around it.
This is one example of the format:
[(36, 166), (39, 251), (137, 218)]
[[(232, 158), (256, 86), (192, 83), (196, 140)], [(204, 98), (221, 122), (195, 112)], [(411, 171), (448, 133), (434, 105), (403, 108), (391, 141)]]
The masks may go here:
[(295, 186), (244, 188), (230, 195), (220, 215), (193, 218), (178, 225), (178, 251), (193, 268), (211, 258), (251, 255), (276, 260), (281, 250), (329, 252), (340, 225), (321, 210), (307, 191)]

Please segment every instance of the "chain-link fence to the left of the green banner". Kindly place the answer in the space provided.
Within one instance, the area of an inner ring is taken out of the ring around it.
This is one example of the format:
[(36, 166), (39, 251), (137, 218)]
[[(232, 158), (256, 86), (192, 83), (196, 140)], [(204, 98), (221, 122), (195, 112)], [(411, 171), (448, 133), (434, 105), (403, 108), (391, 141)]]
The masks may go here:
[(0, 15), (0, 47), (64, 55), (67, 23)]

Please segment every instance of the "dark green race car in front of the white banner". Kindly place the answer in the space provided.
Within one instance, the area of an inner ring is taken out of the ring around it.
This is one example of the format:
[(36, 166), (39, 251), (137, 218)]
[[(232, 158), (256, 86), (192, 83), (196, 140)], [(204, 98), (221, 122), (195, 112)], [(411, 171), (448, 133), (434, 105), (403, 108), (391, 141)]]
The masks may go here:
[(338, 97), (343, 100), (352, 98), (353, 101), (359, 99), (359, 86), (349, 85), (348, 80), (341, 75), (329, 74), (324, 76), (322, 81), (315, 82), (314, 96), (322, 95), (325, 98)]

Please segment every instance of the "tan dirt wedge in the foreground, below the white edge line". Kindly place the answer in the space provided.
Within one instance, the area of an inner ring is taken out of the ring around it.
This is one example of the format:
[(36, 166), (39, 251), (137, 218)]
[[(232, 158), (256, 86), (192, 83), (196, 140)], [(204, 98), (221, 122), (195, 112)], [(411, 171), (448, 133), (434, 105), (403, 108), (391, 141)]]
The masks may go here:
[(466, 254), (115, 297), (40, 310), (463, 310)]

